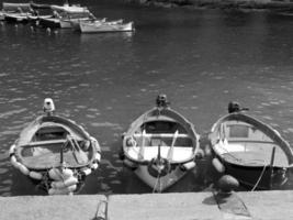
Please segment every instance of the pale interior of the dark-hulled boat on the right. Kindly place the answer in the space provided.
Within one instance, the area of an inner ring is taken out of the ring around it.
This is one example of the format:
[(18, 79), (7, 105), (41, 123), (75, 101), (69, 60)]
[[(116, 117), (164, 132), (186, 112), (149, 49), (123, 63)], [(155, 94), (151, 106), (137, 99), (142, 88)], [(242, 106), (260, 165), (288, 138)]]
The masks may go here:
[[(243, 121), (225, 121), (217, 130), (214, 150), (225, 160), (246, 165), (268, 165), (274, 151), (275, 166), (288, 166), (284, 151), (264, 132)], [(273, 150), (274, 148), (274, 150)]]

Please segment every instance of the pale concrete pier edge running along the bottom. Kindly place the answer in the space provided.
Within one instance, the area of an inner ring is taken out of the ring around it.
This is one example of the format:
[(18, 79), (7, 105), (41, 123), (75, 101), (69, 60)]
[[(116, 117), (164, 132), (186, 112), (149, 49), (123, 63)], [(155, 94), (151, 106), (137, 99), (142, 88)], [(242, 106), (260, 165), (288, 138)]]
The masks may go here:
[(0, 197), (1, 220), (293, 219), (293, 191)]

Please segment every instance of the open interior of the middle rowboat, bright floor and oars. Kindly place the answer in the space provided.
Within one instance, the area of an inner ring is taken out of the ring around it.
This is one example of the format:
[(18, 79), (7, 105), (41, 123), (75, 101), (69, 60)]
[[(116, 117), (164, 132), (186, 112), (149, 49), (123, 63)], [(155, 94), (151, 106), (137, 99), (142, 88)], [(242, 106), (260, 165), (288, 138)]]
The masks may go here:
[(150, 161), (157, 157), (159, 146), (161, 157), (171, 163), (184, 162), (194, 155), (194, 138), (174, 121), (145, 122), (133, 136), (136, 145), (128, 147), (128, 155), (134, 160)]

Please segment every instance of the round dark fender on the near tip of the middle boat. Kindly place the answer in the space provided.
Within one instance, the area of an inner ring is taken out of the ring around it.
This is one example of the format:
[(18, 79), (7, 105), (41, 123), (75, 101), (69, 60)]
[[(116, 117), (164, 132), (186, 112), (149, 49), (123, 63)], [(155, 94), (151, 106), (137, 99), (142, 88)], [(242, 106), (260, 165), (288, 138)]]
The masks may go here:
[[(148, 164), (148, 172), (155, 176), (166, 176), (171, 170), (171, 165), (167, 158), (153, 158)], [(155, 174), (155, 173), (157, 174)]]

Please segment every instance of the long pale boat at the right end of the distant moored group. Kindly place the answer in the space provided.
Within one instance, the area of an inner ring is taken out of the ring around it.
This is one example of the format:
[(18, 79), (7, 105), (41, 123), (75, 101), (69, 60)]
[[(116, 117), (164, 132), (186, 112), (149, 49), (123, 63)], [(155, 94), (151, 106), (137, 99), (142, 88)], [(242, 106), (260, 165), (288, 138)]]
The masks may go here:
[(105, 33), (105, 32), (132, 32), (134, 31), (133, 22), (124, 23), (117, 21), (80, 21), (79, 30), (81, 33)]

